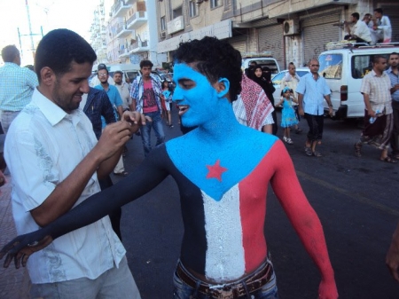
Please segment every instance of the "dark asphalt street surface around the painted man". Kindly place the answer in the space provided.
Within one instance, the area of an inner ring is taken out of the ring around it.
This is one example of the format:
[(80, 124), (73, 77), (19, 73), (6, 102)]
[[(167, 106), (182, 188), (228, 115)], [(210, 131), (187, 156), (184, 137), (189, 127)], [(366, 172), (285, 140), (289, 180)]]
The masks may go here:
[[(176, 111), (173, 112), (176, 120)], [(379, 151), (364, 147), (356, 158), (357, 122), (325, 120), (323, 157), (303, 151), (307, 126), (288, 146), (302, 188), (324, 226), (340, 298), (399, 298), (385, 255), (399, 220), (399, 164), (379, 161)], [(167, 140), (181, 135), (165, 126)], [(281, 138), (279, 128), (278, 136)], [(141, 139), (128, 143), (125, 167), (144, 159)], [(114, 181), (121, 179), (113, 177)], [(290, 182), (286, 182), (289, 187)], [(172, 274), (179, 256), (183, 225), (178, 191), (168, 177), (152, 192), (123, 207), (121, 232), (130, 269), (143, 299), (170, 298)], [(315, 299), (320, 275), (269, 189), (265, 233), (278, 278), (280, 298)]]

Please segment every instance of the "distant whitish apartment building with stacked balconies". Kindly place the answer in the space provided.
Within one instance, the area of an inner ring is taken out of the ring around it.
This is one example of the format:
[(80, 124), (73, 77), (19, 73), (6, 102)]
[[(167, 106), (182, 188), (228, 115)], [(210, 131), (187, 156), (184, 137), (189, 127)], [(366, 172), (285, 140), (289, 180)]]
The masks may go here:
[(91, 46), (98, 54), (96, 65), (129, 64), (139, 69), (142, 59), (150, 59), (161, 67), (167, 56), (157, 52), (155, 11), (155, 0), (99, 0), (90, 28)]

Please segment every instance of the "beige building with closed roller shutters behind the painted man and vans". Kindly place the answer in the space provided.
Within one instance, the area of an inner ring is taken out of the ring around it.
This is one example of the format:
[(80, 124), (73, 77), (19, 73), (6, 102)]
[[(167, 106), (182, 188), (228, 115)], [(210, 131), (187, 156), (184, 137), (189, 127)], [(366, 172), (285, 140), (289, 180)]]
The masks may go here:
[(397, 0), (158, 0), (158, 52), (171, 61), (178, 43), (205, 35), (228, 39), (241, 53), (270, 52), (280, 68), (304, 66), (343, 39), (341, 21), (382, 8), (399, 41)]

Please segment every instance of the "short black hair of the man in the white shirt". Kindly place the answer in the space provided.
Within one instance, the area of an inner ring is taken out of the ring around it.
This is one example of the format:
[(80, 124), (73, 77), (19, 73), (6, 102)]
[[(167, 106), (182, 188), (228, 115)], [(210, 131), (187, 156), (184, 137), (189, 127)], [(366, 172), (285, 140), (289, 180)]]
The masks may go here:
[(93, 64), (96, 59), (96, 52), (81, 35), (68, 29), (55, 29), (44, 35), (37, 46), (35, 72), (40, 83), (43, 67), (50, 67), (58, 76), (65, 74), (73, 61)]

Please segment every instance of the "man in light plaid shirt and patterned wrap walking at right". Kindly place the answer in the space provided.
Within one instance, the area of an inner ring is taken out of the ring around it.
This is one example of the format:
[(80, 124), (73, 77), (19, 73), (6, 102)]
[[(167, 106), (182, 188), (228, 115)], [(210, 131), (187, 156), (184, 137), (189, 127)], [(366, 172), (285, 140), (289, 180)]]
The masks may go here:
[(355, 144), (356, 157), (362, 156), (362, 146), (371, 145), (379, 150), (380, 161), (396, 163), (388, 156), (389, 140), (394, 127), (392, 113), (391, 81), (385, 72), (387, 59), (384, 56), (374, 56), (372, 71), (364, 75), (360, 92), (364, 98), (364, 130)]

